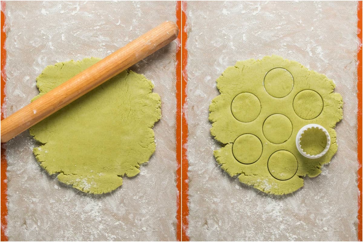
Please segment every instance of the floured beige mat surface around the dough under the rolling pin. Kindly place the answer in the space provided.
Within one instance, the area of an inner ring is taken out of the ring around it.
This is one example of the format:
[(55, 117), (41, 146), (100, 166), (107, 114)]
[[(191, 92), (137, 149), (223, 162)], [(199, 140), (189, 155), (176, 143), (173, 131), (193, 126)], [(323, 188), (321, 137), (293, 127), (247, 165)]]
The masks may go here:
[[(163, 21), (176, 21), (175, 8), (175, 1), (6, 2), (5, 116), (38, 94), (35, 78), (47, 65), (106, 57)], [(176, 240), (175, 54), (176, 41), (131, 68), (154, 82), (162, 118), (154, 155), (114, 192), (87, 195), (49, 176), (34, 158), (29, 131), (6, 144), (9, 240)]]

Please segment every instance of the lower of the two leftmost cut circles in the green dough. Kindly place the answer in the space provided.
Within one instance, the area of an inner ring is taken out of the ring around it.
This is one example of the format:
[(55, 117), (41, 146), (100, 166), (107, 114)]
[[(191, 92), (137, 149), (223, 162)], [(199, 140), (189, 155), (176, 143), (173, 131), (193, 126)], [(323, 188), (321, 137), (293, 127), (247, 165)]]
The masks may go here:
[(232, 153), (234, 158), (242, 164), (252, 164), (260, 159), (262, 143), (256, 135), (243, 134), (233, 142)]

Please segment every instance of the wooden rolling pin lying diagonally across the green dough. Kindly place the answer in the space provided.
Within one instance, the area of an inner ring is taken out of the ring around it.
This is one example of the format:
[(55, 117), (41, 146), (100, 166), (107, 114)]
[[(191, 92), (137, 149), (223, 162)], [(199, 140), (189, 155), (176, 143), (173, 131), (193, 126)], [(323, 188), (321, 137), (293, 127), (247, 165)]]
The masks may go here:
[(156, 50), (169, 44), (175, 40), (178, 32), (178, 26), (174, 22), (163, 22), (3, 119), (1, 121), (1, 143), (12, 139)]

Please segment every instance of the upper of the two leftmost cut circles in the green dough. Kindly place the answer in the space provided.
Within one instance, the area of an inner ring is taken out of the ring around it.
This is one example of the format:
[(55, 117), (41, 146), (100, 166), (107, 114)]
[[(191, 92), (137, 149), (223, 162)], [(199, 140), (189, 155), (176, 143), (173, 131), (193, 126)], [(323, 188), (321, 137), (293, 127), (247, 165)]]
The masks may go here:
[(261, 103), (252, 93), (240, 93), (233, 98), (231, 111), (238, 121), (248, 123), (255, 120), (260, 114)]

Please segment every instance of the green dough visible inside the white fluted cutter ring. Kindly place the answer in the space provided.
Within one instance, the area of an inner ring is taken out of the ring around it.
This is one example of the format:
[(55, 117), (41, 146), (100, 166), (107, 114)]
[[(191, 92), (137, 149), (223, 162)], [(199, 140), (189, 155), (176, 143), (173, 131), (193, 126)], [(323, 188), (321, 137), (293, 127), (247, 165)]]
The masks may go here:
[(326, 135), (319, 128), (309, 128), (302, 133), (300, 145), (308, 155), (318, 155), (326, 147)]

